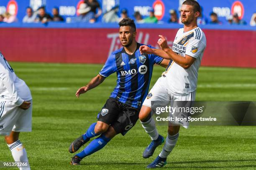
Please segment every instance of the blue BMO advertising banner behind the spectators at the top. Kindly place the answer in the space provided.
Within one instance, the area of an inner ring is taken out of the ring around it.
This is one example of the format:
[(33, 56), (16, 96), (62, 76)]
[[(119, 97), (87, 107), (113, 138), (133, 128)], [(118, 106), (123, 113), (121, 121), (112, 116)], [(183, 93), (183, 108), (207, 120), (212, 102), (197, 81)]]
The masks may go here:
[[(102, 8), (102, 13), (106, 13), (113, 7), (119, 7), (118, 15), (122, 9), (128, 10), (128, 16), (133, 17), (133, 13), (138, 11), (143, 18), (148, 17), (149, 10), (154, 9), (154, 14), (158, 18), (159, 23), (167, 23), (170, 14), (169, 11), (174, 9), (179, 11), (184, 0), (98, 0)], [(234, 13), (238, 14), (241, 20), (250, 23), (253, 13), (256, 13), (255, 0), (214, 0), (209, 3), (207, 0), (197, 0), (202, 6), (202, 15), (210, 20), (210, 13), (217, 13), (221, 23), (226, 24), (226, 18)], [(33, 10), (38, 7), (46, 6), (46, 12), (51, 13), (53, 7), (59, 8), (59, 13), (64, 18), (75, 18), (77, 16), (77, 8), (83, 0), (1, 0), (0, 14), (8, 11), (11, 15), (16, 15), (18, 21), (22, 21), (26, 15), (26, 7), (31, 6)], [(102, 16), (97, 20), (101, 22)]]

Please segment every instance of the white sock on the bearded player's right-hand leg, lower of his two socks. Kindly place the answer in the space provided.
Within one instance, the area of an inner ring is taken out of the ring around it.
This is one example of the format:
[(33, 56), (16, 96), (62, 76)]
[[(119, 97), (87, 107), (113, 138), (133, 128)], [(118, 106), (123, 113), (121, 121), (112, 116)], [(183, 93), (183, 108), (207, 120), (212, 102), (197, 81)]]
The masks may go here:
[(179, 133), (177, 133), (176, 135), (173, 135), (173, 136), (168, 134), (168, 136), (165, 140), (165, 143), (164, 143), (164, 148), (161, 151), (161, 153), (159, 154), (159, 156), (161, 158), (167, 158), (167, 156), (172, 152), (174, 146), (177, 143), (178, 137), (179, 137)]

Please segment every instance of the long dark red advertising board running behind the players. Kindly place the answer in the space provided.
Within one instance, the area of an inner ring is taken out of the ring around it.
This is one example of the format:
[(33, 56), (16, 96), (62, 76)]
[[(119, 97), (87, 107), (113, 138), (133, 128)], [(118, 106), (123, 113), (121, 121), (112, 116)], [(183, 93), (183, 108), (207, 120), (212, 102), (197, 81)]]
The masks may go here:
[[(172, 46), (177, 30), (139, 28), (137, 40), (159, 47), (158, 35), (162, 34)], [(2, 28), (1, 32), (0, 38), (5, 40), (0, 42), (2, 51), (13, 61), (104, 63), (111, 52), (121, 47), (118, 28)], [(256, 67), (256, 58), (251, 55), (254, 31), (207, 29), (204, 32), (207, 48), (202, 65)], [(20, 57), (20, 53), (26, 53), (26, 57)]]

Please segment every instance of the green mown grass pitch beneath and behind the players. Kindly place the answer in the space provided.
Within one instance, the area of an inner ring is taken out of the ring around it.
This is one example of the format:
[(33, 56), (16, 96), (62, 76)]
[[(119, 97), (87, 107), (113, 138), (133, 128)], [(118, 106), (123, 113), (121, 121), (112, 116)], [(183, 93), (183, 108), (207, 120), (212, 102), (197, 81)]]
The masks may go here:
[[(117, 135), (99, 152), (71, 166), (70, 143), (96, 122), (96, 115), (115, 87), (115, 74), (77, 99), (76, 90), (97, 75), (102, 65), (10, 63), (33, 96), (33, 131), (21, 133), (32, 170), (143, 170), (156, 158), (142, 158), (150, 138), (141, 124), (125, 137)], [(164, 69), (156, 66), (151, 87)], [(256, 69), (201, 67), (196, 100), (256, 100)], [(167, 127), (159, 126), (166, 137)], [(0, 161), (13, 161), (0, 138)], [(181, 128), (177, 146), (164, 169), (255, 170), (256, 127), (191, 126)], [(7, 168), (18, 169), (18, 168)]]

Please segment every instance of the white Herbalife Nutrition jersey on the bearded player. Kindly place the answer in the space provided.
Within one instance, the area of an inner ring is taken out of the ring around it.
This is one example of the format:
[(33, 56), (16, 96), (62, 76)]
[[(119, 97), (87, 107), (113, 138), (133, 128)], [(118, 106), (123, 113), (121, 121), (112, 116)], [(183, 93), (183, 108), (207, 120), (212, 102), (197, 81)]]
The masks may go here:
[(172, 93), (175, 95), (187, 95), (189, 92), (196, 90), (198, 69), (205, 47), (205, 34), (199, 27), (187, 32), (184, 32), (184, 28), (178, 30), (172, 50), (182, 57), (189, 55), (196, 60), (188, 69), (184, 69), (176, 62), (172, 62), (167, 71), (164, 72), (167, 77), (168, 87)]

